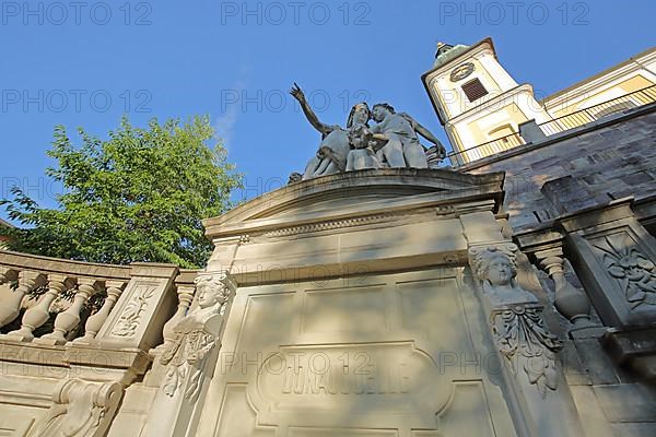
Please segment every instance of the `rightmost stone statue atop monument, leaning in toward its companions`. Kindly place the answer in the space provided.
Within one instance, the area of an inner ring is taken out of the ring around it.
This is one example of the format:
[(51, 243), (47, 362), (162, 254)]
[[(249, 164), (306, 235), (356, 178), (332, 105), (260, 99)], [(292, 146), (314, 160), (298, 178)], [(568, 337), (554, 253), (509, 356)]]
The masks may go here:
[(419, 142), (419, 133), (437, 147), (441, 157), (446, 156), (444, 145), (426, 128), (408, 114), (397, 114), (386, 104), (374, 105), (373, 118), (377, 125), (371, 128), (373, 133), (380, 133), (387, 143), (378, 151), (378, 160), (390, 167), (427, 168), (426, 152)]

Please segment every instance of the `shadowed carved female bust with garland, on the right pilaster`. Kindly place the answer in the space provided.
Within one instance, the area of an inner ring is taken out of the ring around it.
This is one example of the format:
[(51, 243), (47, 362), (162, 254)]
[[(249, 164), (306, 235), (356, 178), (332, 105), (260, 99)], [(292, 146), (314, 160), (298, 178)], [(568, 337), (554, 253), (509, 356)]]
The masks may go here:
[(544, 398), (558, 388), (555, 354), (563, 343), (549, 332), (537, 297), (517, 285), (513, 244), (471, 249), (471, 268), (491, 303), (490, 323), (502, 355), (517, 378), (524, 374)]

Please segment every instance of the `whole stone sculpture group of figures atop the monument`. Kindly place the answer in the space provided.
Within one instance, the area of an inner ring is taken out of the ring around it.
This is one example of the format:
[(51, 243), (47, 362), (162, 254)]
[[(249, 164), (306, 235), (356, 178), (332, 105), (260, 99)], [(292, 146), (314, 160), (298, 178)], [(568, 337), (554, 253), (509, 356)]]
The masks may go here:
[[(440, 160), (446, 156), (444, 145), (435, 135), (386, 103), (376, 104), (372, 109), (366, 103), (354, 105), (344, 129), (319, 121), (298, 85), (294, 84), (290, 94), (298, 101), (309, 123), (321, 133), (316, 155), (303, 175), (292, 175), (292, 181), (366, 168), (427, 168), (426, 154), (434, 153)], [(372, 119), (375, 125), (370, 126)], [(425, 150), (418, 134), (434, 146)]]

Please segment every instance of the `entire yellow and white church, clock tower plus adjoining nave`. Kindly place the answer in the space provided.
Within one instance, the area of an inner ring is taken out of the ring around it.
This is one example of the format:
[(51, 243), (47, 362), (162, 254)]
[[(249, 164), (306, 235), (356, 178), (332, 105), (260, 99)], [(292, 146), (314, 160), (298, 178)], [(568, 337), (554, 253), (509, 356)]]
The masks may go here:
[(422, 75), (462, 165), (656, 101), (656, 47), (538, 102), (531, 84), (517, 83), (500, 63), (494, 44), (440, 43), (432, 70)]

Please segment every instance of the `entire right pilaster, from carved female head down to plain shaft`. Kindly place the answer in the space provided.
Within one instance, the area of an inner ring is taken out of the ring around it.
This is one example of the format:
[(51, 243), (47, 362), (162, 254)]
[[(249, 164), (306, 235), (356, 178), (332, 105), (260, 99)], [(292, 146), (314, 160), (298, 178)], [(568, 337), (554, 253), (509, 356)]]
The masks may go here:
[(578, 437), (583, 428), (559, 356), (563, 342), (544, 321), (540, 300), (517, 283), (522, 268), (515, 261), (516, 252), (517, 247), (509, 241), (469, 249), (490, 334), (516, 397), (515, 421), (527, 427), (520, 430), (523, 435)]

